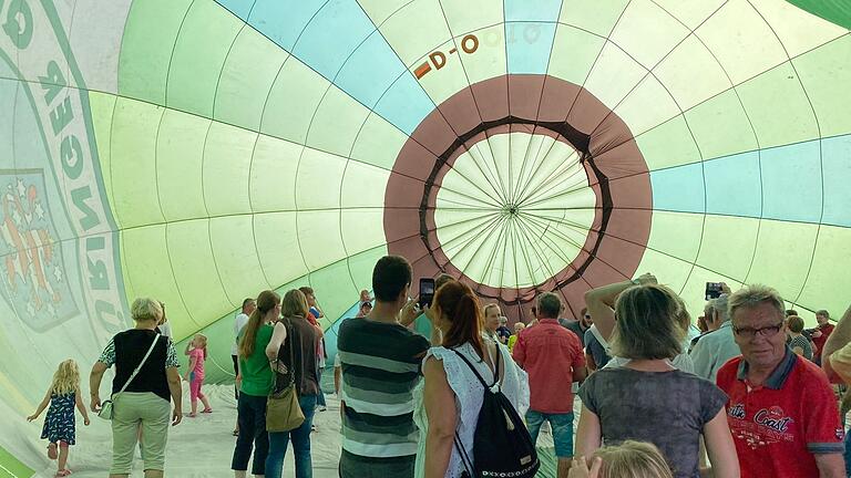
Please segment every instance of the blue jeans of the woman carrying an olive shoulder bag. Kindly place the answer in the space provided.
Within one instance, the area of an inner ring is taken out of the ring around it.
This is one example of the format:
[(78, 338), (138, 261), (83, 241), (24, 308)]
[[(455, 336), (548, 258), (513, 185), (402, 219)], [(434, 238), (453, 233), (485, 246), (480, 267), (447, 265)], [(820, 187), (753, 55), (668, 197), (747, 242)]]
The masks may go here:
[(314, 464), (310, 460), (310, 425), (314, 422), (316, 409), (316, 395), (298, 397), (298, 405), (305, 414), (305, 422), (300, 427), (289, 432), (269, 432), (269, 455), (266, 458), (266, 476), (280, 478), (284, 470), (284, 457), (287, 455), (287, 445), (293, 438), (293, 453), (296, 454), (296, 478), (312, 478)]

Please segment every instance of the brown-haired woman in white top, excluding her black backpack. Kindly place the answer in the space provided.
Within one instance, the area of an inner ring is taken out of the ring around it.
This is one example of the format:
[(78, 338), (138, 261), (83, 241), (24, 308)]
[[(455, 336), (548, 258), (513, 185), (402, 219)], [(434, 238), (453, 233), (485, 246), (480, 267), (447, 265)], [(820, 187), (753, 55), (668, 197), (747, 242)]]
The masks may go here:
[[(426, 354), (426, 380), (414, 394), (413, 419), (420, 428), (417, 478), (461, 476), (464, 465), (458, 447), (453, 446), (455, 434), (468, 453), (473, 449), (484, 389), (458, 353), (484, 381), (491, 383), (499, 374), (502, 393), (521, 416), (529, 407), (526, 373), (514, 363), (505, 345), (483, 335), (481, 311), (473, 291), (455, 281), (438, 289), (432, 308), (426, 309), (443, 340), (440, 346)], [(496, 354), (500, 354), (499, 360)]]

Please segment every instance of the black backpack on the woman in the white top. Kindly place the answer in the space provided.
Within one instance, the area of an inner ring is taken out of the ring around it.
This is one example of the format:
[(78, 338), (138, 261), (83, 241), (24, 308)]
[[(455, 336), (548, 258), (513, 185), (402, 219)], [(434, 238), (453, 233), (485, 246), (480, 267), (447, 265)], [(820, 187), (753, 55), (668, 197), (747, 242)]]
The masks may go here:
[(470, 459), (458, 432), (455, 432), (455, 447), (466, 470), (461, 476), (465, 478), (534, 477), (541, 463), (537, 460), (537, 450), (535, 450), (535, 444), (532, 443), (526, 425), (501, 389), (491, 392), (491, 387), (500, 381), (502, 352), (500, 352), (499, 345), (496, 346), (496, 371), (491, 385), (484, 382), (464, 355), (454, 349), (452, 352), (466, 363), (484, 387), (484, 399), (479, 412), (479, 423), (473, 433), (475, 463)]

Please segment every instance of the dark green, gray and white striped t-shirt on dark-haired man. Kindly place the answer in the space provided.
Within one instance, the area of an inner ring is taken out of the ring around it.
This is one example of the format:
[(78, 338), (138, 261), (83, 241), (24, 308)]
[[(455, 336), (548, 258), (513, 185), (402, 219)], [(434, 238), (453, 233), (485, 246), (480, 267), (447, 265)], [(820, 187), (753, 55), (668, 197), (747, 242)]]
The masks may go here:
[(342, 449), (367, 459), (417, 455), (413, 389), (429, 341), (399, 324), (340, 324)]

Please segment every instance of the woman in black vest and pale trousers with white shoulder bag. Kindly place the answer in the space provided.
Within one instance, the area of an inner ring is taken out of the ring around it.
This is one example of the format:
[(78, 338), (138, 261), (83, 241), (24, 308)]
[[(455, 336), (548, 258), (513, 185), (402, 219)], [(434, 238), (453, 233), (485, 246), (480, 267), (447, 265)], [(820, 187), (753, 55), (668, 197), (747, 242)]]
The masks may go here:
[[(145, 477), (157, 478), (163, 476), (165, 468), (168, 427), (180, 424), (183, 417), (180, 363), (172, 341), (154, 330), (163, 318), (160, 302), (150, 298), (136, 299), (130, 312), (135, 328), (112, 337), (92, 367), (91, 408), (100, 412), (101, 381), (106, 368), (115, 365), (110, 477), (130, 476), (141, 423), (145, 436), (142, 441)], [(139, 373), (130, 381), (136, 368)], [(119, 393), (122, 388), (124, 392)], [(174, 402), (174, 409), (170, 401)]]

